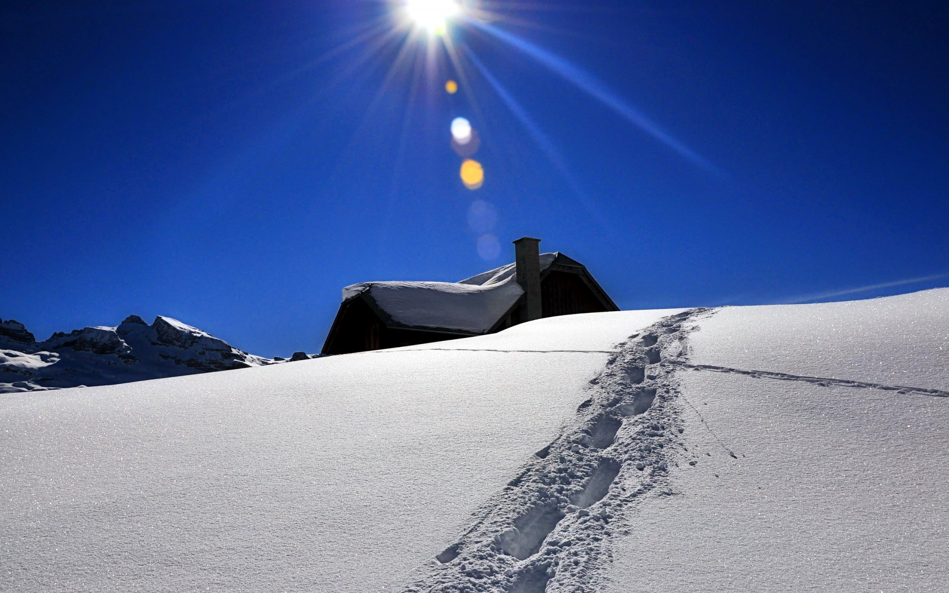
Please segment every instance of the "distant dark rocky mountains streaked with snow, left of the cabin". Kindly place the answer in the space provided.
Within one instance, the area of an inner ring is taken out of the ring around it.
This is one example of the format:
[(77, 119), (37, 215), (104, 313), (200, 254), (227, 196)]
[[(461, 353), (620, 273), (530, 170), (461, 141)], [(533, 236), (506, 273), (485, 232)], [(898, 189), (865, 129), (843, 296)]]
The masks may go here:
[(131, 315), (115, 327), (57, 332), (46, 342), (36, 342), (23, 324), (0, 320), (0, 394), (112, 385), (278, 361), (283, 359), (248, 354), (170, 317), (156, 317), (149, 325)]

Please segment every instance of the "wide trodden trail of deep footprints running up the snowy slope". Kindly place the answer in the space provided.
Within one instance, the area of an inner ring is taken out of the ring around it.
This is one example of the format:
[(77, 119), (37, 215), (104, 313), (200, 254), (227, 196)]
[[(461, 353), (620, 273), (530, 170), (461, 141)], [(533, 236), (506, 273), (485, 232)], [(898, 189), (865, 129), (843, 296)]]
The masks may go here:
[[(591, 593), (609, 542), (649, 492), (674, 494), (668, 467), (685, 450), (676, 372), (695, 308), (620, 343), (590, 398), (553, 442), (480, 510), (404, 593)], [(734, 456), (734, 454), (733, 454)]]

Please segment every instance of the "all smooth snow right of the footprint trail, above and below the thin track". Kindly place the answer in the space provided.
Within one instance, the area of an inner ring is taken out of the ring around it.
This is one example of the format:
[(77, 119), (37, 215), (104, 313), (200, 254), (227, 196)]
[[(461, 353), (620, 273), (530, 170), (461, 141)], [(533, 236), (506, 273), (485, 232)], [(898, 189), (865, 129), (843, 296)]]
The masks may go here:
[(727, 307), (689, 342), (674, 493), (639, 501), (604, 591), (945, 588), (949, 289)]

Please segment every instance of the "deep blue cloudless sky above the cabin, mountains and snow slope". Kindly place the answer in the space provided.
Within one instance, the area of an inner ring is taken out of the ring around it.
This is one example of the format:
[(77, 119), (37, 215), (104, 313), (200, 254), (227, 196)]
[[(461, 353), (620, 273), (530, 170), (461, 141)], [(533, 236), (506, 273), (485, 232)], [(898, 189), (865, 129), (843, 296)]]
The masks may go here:
[(162, 314), (315, 352), (345, 285), (522, 235), (623, 308), (949, 285), (945, 2), (482, 3), (461, 72), (385, 2), (3, 6), (0, 317), (40, 338)]

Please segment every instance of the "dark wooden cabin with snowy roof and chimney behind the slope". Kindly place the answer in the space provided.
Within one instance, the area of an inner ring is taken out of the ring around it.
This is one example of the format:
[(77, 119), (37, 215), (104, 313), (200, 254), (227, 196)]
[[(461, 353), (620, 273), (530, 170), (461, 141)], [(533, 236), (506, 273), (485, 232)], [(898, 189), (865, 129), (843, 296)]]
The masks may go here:
[(365, 282), (343, 289), (324, 354), (346, 354), (490, 334), (573, 313), (618, 311), (586, 267), (514, 241), (513, 264), (459, 282)]

